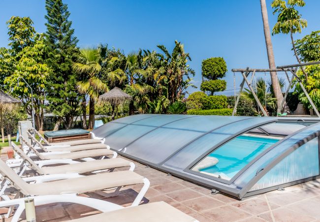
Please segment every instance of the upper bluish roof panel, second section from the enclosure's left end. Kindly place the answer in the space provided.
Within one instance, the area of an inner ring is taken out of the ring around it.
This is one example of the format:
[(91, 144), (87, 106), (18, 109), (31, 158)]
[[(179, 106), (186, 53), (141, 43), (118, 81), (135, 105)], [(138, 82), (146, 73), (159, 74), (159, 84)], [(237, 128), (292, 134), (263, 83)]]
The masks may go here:
[(177, 121), (185, 118), (192, 119), (193, 117), (196, 117), (196, 115), (159, 115), (156, 118), (145, 118), (145, 119), (136, 121), (132, 124), (159, 127), (173, 121)]

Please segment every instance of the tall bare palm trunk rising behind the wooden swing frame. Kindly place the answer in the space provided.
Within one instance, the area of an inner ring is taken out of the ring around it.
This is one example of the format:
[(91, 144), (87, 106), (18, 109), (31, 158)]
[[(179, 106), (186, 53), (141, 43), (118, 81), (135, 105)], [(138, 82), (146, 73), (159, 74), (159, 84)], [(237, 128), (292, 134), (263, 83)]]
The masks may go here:
[[(269, 61), (269, 68), (270, 69), (276, 69), (276, 63), (274, 61), (274, 54), (273, 54), (273, 47), (271, 42), (271, 34), (270, 34), (270, 28), (269, 28), (269, 22), (268, 22), (268, 12), (267, 12), (267, 6), (265, 3), (265, 0), (260, 0), (261, 5), (261, 13), (262, 13), (262, 21), (263, 21), (263, 31), (264, 31), (264, 37), (265, 37), (265, 44), (267, 47), (267, 54), (268, 54), (268, 61)], [(280, 112), (282, 110), (281, 102), (283, 100), (283, 94), (281, 92), (281, 87), (279, 84), (278, 76), (276, 72), (270, 72), (271, 76), (271, 83), (272, 83), (272, 89), (274, 92), (274, 96), (277, 99), (277, 112)]]

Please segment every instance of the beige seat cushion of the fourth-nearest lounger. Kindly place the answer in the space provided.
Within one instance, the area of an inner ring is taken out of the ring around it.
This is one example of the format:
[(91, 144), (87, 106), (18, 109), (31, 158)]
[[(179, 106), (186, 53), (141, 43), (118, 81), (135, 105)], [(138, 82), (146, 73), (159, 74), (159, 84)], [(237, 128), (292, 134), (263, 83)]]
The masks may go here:
[(59, 154), (46, 154), (38, 153), (41, 159), (81, 159), (86, 157), (106, 156), (113, 155), (110, 149), (89, 149), (76, 152), (59, 153)]

